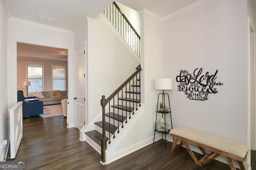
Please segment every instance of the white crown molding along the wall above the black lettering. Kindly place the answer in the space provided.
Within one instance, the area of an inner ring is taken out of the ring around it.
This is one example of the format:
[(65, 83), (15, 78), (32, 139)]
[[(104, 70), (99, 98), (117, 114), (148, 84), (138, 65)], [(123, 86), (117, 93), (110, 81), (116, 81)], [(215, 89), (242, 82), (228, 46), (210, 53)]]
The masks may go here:
[(203, 4), (207, 3), (207, 2), (210, 2), (210, 1), (211, 0), (199, 0), (199, 1), (195, 2), (195, 3), (193, 3), (193, 4), (190, 4), (190, 5), (188, 5), (188, 6), (184, 7), (184, 8), (181, 8), (180, 10), (178, 10), (176, 12), (173, 12), (172, 14), (169, 14), (169, 15), (163, 17), (162, 21), (166, 21), (166, 20), (168, 20), (170, 18), (178, 16), (178, 15), (184, 13), (184, 12), (192, 10), (192, 9), (194, 9), (194, 8), (196, 8), (198, 6), (201, 6), (201, 5), (203, 5)]

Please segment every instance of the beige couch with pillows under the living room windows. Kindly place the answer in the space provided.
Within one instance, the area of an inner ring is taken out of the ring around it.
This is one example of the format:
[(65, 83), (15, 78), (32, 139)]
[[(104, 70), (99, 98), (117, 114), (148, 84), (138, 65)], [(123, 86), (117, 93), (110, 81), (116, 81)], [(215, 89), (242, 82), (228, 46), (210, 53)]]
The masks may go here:
[(52, 90), (46, 92), (33, 92), (44, 105), (61, 104), (61, 100), (68, 98), (68, 91)]

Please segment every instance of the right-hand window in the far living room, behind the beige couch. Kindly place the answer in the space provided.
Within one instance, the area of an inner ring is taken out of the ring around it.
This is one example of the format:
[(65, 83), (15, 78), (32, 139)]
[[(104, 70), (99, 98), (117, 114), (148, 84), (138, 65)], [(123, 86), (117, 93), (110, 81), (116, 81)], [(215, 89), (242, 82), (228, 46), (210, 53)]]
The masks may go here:
[(52, 90), (66, 90), (66, 66), (52, 65)]

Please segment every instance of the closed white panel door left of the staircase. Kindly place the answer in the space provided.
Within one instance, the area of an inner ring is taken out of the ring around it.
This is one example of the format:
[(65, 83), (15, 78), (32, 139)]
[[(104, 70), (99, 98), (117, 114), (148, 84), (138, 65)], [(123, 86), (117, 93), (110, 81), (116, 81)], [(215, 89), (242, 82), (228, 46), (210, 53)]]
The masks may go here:
[(75, 127), (81, 129), (85, 124), (85, 45), (76, 49), (76, 92), (75, 92)]

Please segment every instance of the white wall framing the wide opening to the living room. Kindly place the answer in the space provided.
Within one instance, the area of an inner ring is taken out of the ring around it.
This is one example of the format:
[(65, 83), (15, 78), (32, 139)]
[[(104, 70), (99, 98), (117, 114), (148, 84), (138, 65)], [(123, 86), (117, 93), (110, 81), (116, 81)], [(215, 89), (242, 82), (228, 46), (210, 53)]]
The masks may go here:
[[(74, 98), (73, 33), (41, 24), (10, 18), (8, 20), (8, 108), (17, 102), (17, 42), (68, 49), (68, 97)], [(69, 123), (74, 123), (74, 101), (69, 101)]]

